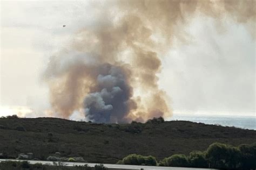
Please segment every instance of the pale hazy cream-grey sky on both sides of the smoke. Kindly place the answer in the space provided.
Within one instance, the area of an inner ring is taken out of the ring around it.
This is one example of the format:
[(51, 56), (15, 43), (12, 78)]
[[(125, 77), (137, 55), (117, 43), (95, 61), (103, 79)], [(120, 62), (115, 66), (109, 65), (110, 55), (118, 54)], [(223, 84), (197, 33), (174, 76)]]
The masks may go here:
[[(49, 57), (72, 35), (95, 24), (97, 9), (86, 2), (1, 1), (1, 110), (50, 109), (41, 81)], [(66, 27), (63, 27), (66, 25)], [(174, 114), (255, 116), (255, 39), (243, 25), (198, 16), (186, 25), (189, 44), (173, 43), (161, 57), (159, 86), (170, 96)], [(34, 115), (35, 116), (35, 115)]]

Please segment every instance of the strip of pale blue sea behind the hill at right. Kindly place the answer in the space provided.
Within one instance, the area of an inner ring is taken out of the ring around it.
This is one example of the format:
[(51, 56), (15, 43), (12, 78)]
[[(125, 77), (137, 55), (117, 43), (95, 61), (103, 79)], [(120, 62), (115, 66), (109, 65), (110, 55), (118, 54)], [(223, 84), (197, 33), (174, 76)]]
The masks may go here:
[(198, 116), (198, 115), (173, 115), (170, 119), (179, 121), (201, 122), (205, 124), (219, 124), (222, 126), (235, 126), (242, 129), (256, 130), (256, 116)]

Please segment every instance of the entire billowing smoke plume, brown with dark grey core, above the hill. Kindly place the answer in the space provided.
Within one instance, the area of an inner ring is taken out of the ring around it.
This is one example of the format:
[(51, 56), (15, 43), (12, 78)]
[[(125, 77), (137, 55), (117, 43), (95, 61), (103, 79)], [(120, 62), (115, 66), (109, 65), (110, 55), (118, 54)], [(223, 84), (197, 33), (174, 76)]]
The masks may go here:
[(198, 13), (232, 18), (252, 31), (254, 6), (253, 0), (106, 1), (97, 24), (79, 30), (50, 59), (44, 78), (53, 110), (63, 118), (82, 110), (89, 120), (111, 123), (170, 117), (157, 74), (173, 39), (188, 41), (186, 23)]

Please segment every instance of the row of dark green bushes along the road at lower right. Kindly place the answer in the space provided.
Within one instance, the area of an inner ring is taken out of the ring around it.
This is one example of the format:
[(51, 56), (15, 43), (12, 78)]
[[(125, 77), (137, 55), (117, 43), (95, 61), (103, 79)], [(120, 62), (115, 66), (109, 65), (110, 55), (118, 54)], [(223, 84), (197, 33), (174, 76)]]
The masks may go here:
[(157, 162), (152, 156), (130, 154), (117, 164), (174, 166), (222, 169), (255, 169), (256, 143), (238, 147), (222, 143), (211, 144), (206, 151), (193, 151), (189, 155), (174, 154)]

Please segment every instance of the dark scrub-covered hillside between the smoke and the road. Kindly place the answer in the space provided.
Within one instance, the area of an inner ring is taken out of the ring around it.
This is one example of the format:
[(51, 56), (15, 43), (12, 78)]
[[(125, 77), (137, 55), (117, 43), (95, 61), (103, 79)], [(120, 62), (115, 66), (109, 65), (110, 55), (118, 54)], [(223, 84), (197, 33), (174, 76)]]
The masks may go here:
[[(15, 130), (23, 126), (26, 131)], [(49, 141), (47, 133), (53, 133)], [(219, 141), (237, 146), (256, 142), (256, 131), (186, 121), (161, 124), (93, 124), (58, 118), (0, 118), (0, 153), (32, 152), (46, 159), (55, 152), (89, 162), (116, 163), (128, 154), (153, 155), (206, 150)]]

